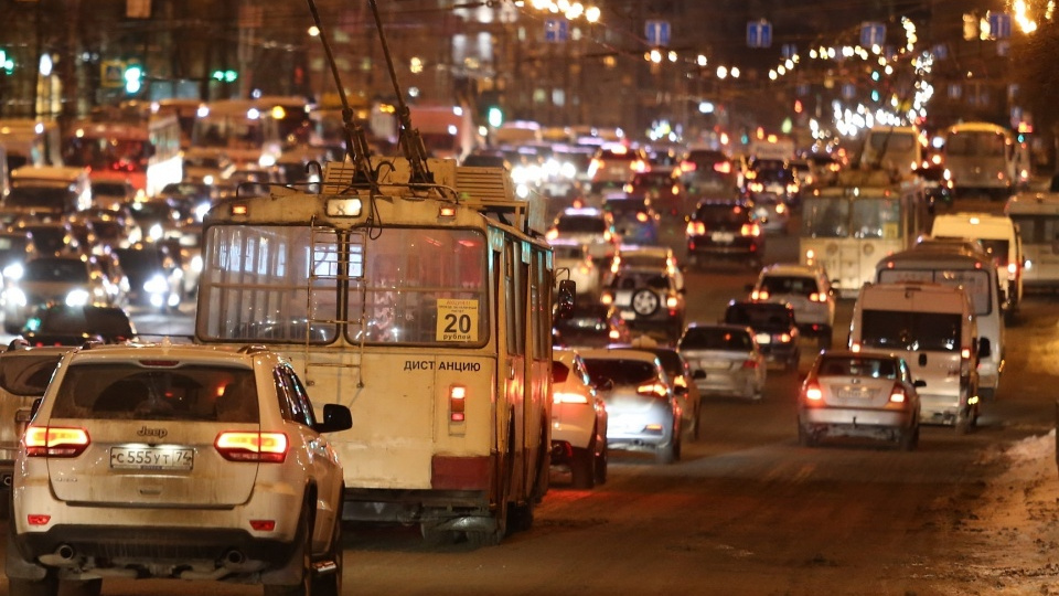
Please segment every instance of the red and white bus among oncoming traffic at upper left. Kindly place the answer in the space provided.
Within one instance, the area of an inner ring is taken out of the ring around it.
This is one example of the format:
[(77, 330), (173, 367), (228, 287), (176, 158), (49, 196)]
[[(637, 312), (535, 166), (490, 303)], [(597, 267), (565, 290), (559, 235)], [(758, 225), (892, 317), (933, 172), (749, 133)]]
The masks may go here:
[(146, 198), (184, 175), (180, 124), (174, 116), (81, 120), (69, 130), (63, 159), (67, 166), (88, 168), (95, 181), (127, 180)]

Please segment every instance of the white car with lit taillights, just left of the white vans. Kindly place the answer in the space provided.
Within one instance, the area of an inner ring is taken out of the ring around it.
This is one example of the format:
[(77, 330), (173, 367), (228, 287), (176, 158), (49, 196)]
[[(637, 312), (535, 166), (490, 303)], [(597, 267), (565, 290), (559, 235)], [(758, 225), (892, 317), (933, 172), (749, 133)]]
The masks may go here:
[(761, 269), (750, 288), (750, 299), (789, 304), (798, 330), (816, 337), (821, 348), (831, 348), (835, 326), (835, 292), (822, 266), (775, 264)]

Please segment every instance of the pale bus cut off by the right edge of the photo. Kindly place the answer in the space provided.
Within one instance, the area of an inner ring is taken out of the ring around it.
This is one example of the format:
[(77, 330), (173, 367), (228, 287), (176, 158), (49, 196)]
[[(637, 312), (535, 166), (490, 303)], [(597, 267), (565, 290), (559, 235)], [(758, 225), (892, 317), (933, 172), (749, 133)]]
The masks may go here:
[(1007, 200), (1004, 213), (1023, 242), (1024, 288), (1059, 289), (1059, 192), (1020, 192)]

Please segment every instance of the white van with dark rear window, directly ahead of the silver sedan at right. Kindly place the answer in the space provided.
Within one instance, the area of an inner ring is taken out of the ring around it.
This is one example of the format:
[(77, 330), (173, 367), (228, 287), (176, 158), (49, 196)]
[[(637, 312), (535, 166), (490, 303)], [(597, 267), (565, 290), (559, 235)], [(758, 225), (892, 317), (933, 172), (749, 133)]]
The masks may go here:
[(865, 284), (853, 307), (849, 349), (884, 350), (905, 358), (920, 387), (920, 422), (967, 433), (978, 417), (975, 362), (988, 355), (978, 340), (963, 288), (902, 281)]

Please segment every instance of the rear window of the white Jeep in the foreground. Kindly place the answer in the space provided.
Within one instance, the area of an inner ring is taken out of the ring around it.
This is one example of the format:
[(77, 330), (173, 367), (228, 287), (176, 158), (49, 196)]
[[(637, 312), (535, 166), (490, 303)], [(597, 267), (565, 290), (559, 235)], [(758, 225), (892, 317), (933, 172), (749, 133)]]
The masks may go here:
[(53, 418), (257, 423), (254, 371), (201, 364), (73, 364)]

